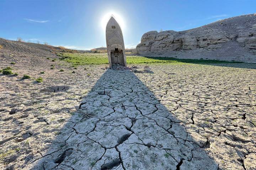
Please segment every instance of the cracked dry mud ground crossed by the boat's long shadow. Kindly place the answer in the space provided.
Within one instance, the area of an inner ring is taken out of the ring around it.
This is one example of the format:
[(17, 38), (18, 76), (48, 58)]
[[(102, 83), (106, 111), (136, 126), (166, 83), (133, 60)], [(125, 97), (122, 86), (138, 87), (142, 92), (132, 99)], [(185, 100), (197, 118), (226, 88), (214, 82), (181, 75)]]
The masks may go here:
[(102, 67), (1, 76), (0, 169), (256, 169), (254, 64)]

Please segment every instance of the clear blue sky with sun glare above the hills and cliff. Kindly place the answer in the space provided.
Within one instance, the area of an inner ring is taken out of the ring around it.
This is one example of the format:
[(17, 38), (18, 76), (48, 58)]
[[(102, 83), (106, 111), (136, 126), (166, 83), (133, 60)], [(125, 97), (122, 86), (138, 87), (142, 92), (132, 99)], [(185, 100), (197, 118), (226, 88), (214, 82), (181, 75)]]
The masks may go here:
[(106, 46), (103, 25), (111, 13), (126, 47), (135, 47), (151, 30), (187, 30), (256, 13), (256, 0), (0, 0), (0, 37), (72, 49)]

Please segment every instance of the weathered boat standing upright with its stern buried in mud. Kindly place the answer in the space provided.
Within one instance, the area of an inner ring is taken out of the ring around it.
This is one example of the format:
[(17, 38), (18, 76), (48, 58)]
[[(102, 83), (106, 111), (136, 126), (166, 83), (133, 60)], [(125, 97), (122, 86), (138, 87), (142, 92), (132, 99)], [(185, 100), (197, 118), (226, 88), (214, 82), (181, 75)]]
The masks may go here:
[(113, 16), (110, 17), (106, 26), (106, 42), (110, 67), (126, 66), (123, 33)]

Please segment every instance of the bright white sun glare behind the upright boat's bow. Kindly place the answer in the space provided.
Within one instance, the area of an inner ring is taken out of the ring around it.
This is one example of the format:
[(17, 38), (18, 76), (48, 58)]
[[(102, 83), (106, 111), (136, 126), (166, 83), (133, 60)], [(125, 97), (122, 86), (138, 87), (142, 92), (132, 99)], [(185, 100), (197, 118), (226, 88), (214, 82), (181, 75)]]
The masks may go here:
[(105, 13), (105, 15), (102, 17), (101, 19), (101, 27), (102, 29), (105, 31), (106, 30), (106, 26), (107, 26), (107, 22), (108, 20), (110, 19), (111, 15), (114, 16), (114, 18), (116, 19), (116, 21), (118, 22), (119, 26), (121, 27), (122, 29), (122, 32), (124, 31), (124, 29), (126, 28), (125, 27), (125, 23), (124, 23), (124, 20), (123, 20), (123, 17), (121, 15), (119, 15), (118, 13), (116, 12), (107, 12)]

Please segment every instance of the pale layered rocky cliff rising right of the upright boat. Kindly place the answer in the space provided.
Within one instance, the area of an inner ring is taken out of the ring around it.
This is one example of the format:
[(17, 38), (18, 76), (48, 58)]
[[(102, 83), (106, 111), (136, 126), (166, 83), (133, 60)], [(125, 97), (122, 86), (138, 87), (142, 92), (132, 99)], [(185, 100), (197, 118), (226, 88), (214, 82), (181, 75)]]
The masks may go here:
[(142, 56), (256, 62), (256, 14), (180, 32), (150, 31), (143, 34), (137, 52)]

